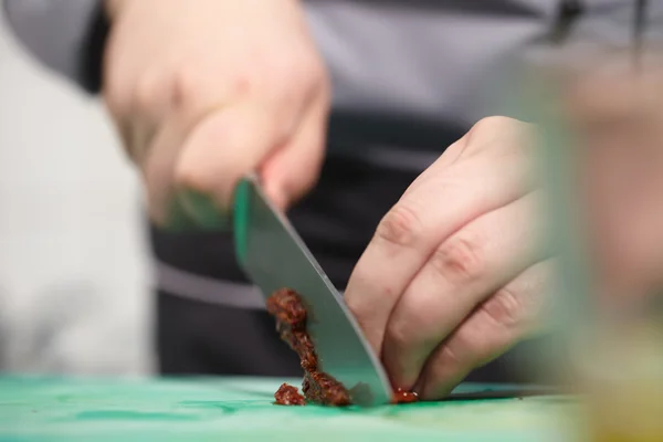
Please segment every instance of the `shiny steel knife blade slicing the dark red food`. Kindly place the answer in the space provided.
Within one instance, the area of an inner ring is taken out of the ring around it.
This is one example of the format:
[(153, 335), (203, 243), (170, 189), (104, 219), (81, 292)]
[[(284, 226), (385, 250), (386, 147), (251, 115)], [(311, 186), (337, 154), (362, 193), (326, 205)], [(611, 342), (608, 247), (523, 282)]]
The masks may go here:
[(283, 287), (301, 295), (322, 371), (340, 381), (356, 404), (388, 403), (392, 391), (385, 369), (343, 296), (255, 176), (235, 189), (233, 231), (238, 261), (265, 299)]

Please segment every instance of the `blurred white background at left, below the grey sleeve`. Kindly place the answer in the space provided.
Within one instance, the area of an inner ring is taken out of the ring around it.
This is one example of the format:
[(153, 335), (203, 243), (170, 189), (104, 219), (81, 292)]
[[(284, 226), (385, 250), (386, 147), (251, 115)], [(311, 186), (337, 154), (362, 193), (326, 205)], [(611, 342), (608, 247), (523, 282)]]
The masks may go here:
[(139, 182), (97, 99), (0, 15), (0, 370), (150, 370)]

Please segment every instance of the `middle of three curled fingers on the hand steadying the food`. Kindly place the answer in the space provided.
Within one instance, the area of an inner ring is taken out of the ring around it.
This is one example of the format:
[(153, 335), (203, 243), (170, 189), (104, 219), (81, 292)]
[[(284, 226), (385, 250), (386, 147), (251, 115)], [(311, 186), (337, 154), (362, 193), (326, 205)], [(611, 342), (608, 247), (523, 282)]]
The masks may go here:
[(532, 192), (472, 221), (414, 276), (385, 335), (382, 360), (394, 385), (412, 387), (428, 356), (472, 309), (543, 259), (538, 198)]

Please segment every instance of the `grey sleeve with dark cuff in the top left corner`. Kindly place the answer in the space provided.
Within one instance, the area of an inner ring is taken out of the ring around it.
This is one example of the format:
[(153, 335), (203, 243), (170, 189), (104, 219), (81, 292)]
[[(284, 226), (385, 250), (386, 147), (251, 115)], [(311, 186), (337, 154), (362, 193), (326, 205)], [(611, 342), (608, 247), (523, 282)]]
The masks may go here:
[(6, 0), (4, 9), (17, 38), (44, 65), (99, 90), (108, 28), (101, 0)]

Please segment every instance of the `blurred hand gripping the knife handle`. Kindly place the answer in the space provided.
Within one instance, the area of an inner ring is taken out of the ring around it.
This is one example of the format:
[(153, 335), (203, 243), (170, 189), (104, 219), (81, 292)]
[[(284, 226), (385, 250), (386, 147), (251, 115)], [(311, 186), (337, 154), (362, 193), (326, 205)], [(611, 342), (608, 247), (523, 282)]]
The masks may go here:
[(329, 84), (297, 0), (107, 0), (104, 96), (165, 227), (218, 227), (257, 171), (286, 208), (317, 180)]

